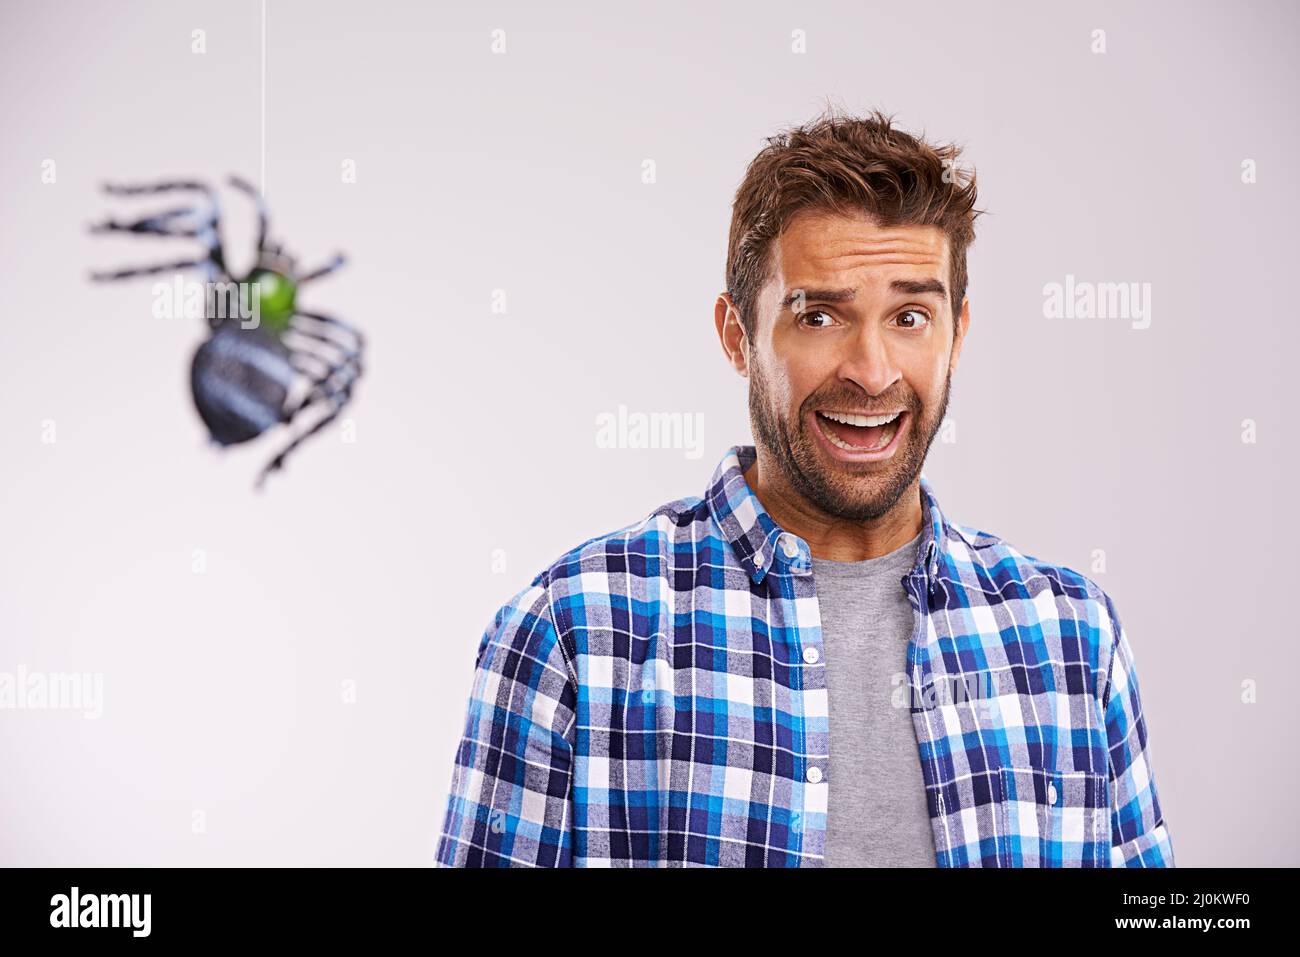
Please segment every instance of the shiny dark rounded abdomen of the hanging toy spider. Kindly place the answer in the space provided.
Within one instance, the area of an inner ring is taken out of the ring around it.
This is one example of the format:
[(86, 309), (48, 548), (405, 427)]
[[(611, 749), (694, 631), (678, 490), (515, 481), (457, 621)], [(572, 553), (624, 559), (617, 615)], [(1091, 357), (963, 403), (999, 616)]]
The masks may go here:
[(295, 377), (289, 350), (260, 328), (231, 320), (194, 354), (194, 404), (212, 438), (235, 445), (285, 421), (285, 399)]

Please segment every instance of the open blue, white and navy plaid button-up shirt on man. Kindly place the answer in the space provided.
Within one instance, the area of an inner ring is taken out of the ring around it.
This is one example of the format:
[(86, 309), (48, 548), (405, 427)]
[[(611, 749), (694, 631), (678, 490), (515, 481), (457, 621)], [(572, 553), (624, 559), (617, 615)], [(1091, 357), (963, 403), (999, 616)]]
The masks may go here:
[[(560, 555), (478, 645), (436, 866), (824, 865), (809, 545), (733, 446), (701, 497)], [(1173, 866), (1128, 638), (1070, 568), (944, 518), (920, 477), (897, 706), (940, 867)]]

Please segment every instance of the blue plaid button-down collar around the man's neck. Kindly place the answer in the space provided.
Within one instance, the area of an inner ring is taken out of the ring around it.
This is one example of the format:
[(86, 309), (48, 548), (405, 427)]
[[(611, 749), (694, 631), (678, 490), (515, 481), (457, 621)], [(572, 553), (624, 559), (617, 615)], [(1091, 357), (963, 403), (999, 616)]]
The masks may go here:
[[(757, 454), (751, 445), (733, 445), (714, 469), (705, 493), (714, 521), (722, 528), (736, 560), (755, 585), (766, 577), (776, 560), (785, 562), (794, 571), (812, 567), (809, 544), (777, 525), (745, 481), (745, 469), (754, 464)], [(928, 592), (933, 594), (939, 579), (939, 557), (948, 541), (948, 525), (924, 473), (920, 476), (920, 544), (911, 573), (924, 575)]]

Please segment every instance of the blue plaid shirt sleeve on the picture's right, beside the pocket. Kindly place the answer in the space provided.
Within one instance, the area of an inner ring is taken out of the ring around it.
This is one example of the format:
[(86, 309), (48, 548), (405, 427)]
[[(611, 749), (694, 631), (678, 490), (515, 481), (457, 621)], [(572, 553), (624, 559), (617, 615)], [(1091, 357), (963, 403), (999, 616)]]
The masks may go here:
[(1110, 752), (1110, 866), (1173, 867), (1174, 848), (1156, 793), (1132, 648), (1109, 596), (1106, 611), (1113, 646), (1101, 709)]

